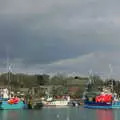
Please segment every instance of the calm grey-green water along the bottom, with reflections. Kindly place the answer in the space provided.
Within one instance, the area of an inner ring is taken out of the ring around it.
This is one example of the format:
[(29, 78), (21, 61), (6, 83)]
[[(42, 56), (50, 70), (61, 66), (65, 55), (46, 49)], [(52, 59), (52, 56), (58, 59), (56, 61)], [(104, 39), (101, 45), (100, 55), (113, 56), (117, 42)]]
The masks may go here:
[(120, 110), (98, 110), (83, 107), (1, 110), (0, 120), (120, 120)]

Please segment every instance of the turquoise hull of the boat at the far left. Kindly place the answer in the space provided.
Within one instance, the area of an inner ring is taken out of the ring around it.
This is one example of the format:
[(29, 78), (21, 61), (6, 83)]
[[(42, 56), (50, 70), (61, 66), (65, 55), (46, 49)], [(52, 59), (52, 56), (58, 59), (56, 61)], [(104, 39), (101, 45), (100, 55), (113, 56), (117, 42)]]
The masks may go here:
[(26, 108), (26, 104), (24, 102), (20, 101), (17, 104), (9, 104), (7, 101), (2, 101), (0, 104), (1, 110), (13, 110), (13, 109), (24, 109)]

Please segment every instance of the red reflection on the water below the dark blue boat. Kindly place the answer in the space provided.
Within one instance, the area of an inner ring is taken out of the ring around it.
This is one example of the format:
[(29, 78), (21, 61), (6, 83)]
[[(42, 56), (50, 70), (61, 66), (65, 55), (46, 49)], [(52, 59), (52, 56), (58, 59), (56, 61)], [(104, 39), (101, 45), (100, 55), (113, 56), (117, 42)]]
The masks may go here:
[(112, 110), (96, 110), (97, 120), (114, 120)]

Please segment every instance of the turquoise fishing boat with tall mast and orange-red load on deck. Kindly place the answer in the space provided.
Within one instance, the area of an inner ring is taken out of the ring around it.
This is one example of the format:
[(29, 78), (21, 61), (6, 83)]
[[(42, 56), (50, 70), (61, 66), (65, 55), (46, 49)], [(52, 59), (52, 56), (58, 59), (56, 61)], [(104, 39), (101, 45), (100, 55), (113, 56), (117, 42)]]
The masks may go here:
[(23, 99), (18, 98), (17, 96), (12, 95), (11, 91), (11, 66), (8, 64), (8, 88), (0, 89), (0, 110), (12, 110), (12, 109), (24, 109), (27, 108)]

